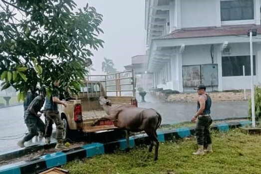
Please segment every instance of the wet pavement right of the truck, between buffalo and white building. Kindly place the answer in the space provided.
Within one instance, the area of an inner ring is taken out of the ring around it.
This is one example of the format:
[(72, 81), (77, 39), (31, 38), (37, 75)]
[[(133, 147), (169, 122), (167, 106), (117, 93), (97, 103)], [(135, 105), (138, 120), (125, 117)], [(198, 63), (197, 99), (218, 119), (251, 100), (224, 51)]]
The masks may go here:
[[(186, 102), (165, 102), (150, 94), (145, 96), (145, 103), (141, 103), (141, 97), (137, 95), (138, 107), (153, 108), (162, 116), (162, 124), (180, 123), (190, 121), (196, 114), (197, 103)], [(247, 101), (224, 101), (213, 102), (211, 107), (211, 117), (214, 120), (225, 118), (248, 117)]]

